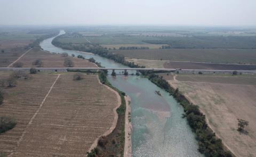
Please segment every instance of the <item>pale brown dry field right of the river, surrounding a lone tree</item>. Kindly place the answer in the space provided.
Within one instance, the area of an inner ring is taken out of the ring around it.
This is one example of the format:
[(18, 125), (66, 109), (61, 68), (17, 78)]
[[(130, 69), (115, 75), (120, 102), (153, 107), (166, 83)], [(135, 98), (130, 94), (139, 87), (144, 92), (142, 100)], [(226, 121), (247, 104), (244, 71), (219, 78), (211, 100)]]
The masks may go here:
[[(179, 88), (206, 115), (213, 131), (236, 156), (256, 156), (256, 76), (177, 76)], [(237, 118), (249, 121), (248, 135), (237, 132)]]

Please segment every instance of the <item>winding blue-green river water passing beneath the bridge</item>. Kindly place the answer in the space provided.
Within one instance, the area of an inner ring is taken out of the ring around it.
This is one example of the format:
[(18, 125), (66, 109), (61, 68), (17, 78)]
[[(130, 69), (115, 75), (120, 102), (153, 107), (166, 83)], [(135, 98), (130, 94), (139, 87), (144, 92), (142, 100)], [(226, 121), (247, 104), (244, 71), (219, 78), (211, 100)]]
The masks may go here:
[[(59, 35), (64, 33), (60, 31)], [(97, 55), (55, 47), (51, 43), (54, 38), (42, 41), (40, 46), (52, 53), (93, 57), (105, 67), (126, 67)], [(132, 156), (203, 156), (186, 119), (181, 118), (183, 108), (169, 93), (140, 76), (108, 75), (108, 80), (131, 97)], [(154, 91), (160, 91), (162, 97)]]

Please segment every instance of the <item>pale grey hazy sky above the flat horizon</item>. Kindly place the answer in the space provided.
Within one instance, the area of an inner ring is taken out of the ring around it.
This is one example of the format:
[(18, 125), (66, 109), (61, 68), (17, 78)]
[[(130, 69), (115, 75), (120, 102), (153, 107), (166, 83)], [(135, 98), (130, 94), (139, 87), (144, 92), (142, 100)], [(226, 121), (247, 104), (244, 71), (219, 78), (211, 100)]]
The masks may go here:
[(0, 0), (0, 25), (256, 25), (256, 0)]

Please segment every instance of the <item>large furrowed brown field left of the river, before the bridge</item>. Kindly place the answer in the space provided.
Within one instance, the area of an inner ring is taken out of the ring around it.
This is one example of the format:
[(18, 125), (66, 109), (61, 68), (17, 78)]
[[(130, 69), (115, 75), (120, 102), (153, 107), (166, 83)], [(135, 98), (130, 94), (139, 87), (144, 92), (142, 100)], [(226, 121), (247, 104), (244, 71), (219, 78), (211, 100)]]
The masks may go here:
[[(15, 118), (17, 125), (0, 135), (0, 152), (13, 152), (12, 156), (85, 156), (95, 139), (112, 126), (117, 97), (99, 83), (97, 75), (83, 75), (83, 80), (73, 81), (73, 74), (60, 74), (41, 107), (57, 74), (38, 73), (5, 89), (0, 115)], [(1, 78), (7, 75), (0, 73)]]

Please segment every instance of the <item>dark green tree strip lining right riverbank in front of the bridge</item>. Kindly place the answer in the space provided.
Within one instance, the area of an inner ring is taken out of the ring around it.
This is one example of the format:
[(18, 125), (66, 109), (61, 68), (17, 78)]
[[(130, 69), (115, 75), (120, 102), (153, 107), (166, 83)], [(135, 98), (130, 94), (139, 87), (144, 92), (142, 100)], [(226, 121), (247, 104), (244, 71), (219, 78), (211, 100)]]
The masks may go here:
[(196, 139), (199, 145), (199, 152), (205, 156), (223, 156), (231, 157), (232, 154), (223, 148), (221, 139), (215, 136), (215, 133), (209, 128), (206, 123), (205, 115), (199, 110), (199, 107), (190, 103), (179, 89), (174, 90), (169, 83), (151, 72), (144, 72), (148, 79), (169, 92), (173, 97), (183, 106), (185, 114), (183, 117), (187, 118), (189, 126), (196, 134)]

